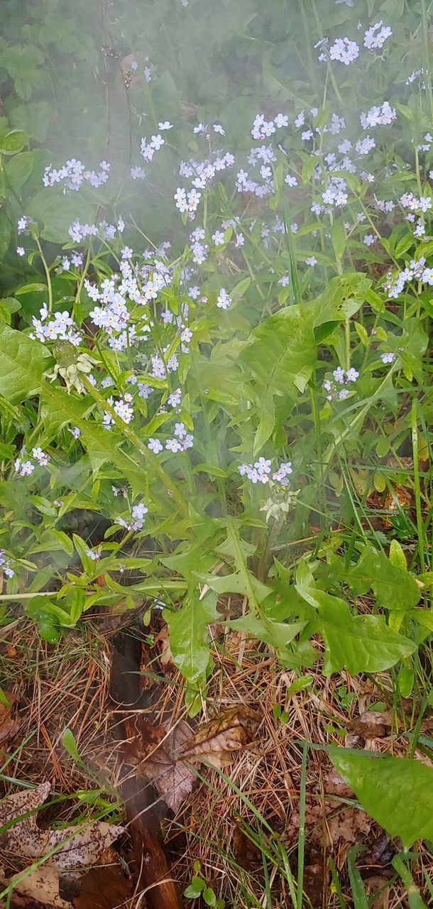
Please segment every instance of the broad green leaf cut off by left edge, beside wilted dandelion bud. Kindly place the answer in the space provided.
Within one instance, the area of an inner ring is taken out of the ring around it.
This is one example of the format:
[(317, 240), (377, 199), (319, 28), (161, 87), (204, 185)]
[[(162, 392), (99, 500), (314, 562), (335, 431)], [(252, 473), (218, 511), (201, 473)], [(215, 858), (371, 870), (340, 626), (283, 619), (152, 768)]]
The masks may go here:
[(39, 391), (51, 354), (39, 341), (5, 323), (0, 323), (0, 345), (0, 395), (19, 404)]

